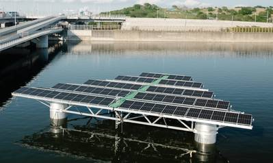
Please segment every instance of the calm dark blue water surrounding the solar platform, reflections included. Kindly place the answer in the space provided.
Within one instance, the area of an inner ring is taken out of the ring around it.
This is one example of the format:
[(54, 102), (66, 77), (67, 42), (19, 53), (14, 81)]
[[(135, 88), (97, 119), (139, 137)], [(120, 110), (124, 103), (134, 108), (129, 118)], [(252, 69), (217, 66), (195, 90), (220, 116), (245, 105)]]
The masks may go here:
[[(0, 162), (270, 162), (273, 154), (273, 45), (176, 42), (67, 42), (0, 53)], [(233, 109), (253, 114), (252, 130), (224, 127), (215, 146), (156, 127), (68, 116), (52, 134), (49, 110), (12, 98), (21, 86), (51, 87), (142, 72), (191, 75)], [(79, 131), (81, 130), (81, 131)], [(196, 149), (190, 158), (183, 149)], [(203, 152), (201, 152), (203, 151)], [(205, 152), (207, 151), (207, 153)]]

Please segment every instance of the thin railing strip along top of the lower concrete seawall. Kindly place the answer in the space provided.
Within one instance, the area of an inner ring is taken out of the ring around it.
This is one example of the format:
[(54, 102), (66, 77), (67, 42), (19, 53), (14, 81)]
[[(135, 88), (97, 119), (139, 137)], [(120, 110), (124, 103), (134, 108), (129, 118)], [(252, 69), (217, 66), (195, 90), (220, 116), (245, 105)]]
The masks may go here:
[(129, 25), (70, 25), (71, 30), (130, 30), (157, 32), (244, 32), (273, 33), (273, 27), (171, 27), (171, 26), (129, 26)]

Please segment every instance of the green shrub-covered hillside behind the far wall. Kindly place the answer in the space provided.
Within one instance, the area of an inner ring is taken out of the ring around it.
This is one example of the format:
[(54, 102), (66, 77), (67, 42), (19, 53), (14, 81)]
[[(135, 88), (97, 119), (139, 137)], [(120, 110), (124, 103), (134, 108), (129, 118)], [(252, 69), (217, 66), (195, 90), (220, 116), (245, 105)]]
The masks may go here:
[(144, 3), (133, 5), (122, 10), (102, 12), (101, 14), (125, 14), (140, 18), (192, 18), (192, 19), (218, 19), (223, 21), (257, 21), (272, 22), (273, 7), (236, 7), (236, 8), (185, 8), (172, 5), (172, 8), (160, 8), (157, 5)]

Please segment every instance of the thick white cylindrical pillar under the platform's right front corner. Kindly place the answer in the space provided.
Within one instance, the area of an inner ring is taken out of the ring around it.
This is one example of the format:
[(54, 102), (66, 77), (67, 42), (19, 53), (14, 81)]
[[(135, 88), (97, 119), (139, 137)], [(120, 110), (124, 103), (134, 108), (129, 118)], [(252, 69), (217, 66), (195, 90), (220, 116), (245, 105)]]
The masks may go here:
[(218, 134), (218, 127), (207, 123), (195, 123), (194, 140), (201, 144), (216, 143), (216, 135)]

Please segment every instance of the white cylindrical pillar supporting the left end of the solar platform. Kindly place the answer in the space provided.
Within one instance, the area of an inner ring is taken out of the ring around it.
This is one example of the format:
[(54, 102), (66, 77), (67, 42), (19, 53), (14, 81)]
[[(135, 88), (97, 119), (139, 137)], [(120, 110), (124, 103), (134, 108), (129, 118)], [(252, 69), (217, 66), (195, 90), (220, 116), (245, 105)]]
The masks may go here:
[(51, 103), (50, 104), (50, 119), (51, 126), (59, 127), (66, 124), (67, 116), (65, 112), (62, 112), (68, 105), (63, 103)]

